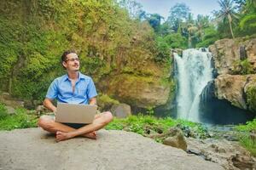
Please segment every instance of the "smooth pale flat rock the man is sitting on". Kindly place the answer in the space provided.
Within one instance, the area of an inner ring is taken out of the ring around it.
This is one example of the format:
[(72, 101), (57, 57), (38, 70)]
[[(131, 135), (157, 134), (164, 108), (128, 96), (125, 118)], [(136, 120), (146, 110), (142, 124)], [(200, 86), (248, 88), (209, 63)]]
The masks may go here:
[(40, 128), (0, 132), (0, 169), (224, 169), (136, 133), (98, 132), (98, 139), (60, 143)]

